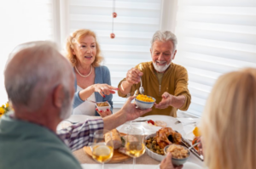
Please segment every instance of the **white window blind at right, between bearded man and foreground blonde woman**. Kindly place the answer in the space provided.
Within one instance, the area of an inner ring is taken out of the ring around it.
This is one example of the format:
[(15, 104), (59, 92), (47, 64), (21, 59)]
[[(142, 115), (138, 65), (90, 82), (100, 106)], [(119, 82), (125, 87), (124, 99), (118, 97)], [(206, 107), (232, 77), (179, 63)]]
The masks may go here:
[(256, 67), (256, 1), (178, 0), (175, 62), (189, 72), (187, 113), (201, 116), (218, 76)]

